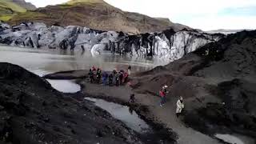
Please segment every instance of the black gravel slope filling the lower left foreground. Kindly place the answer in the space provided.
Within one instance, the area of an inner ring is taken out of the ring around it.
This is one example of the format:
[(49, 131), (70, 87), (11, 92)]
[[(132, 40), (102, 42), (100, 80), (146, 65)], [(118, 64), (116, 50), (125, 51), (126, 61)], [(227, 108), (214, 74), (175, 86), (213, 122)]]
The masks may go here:
[(0, 67), (0, 143), (146, 143), (93, 103), (58, 92), (19, 66)]

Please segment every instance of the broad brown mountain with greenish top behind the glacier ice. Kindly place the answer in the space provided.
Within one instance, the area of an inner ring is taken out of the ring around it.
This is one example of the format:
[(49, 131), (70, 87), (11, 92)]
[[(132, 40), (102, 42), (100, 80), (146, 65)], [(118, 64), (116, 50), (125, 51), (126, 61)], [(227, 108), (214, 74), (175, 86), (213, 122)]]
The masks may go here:
[(150, 18), (143, 14), (122, 11), (103, 0), (71, 0), (61, 5), (46, 6), (18, 14), (11, 25), (21, 22), (44, 22), (48, 26), (86, 26), (96, 30), (123, 31), (130, 34), (169, 29), (190, 29), (167, 18)]

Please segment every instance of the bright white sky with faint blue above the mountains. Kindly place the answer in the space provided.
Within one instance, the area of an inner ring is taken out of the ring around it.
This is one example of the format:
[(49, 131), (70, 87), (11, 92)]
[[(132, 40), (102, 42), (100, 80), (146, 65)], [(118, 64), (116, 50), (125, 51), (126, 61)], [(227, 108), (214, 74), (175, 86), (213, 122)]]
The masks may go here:
[[(26, 0), (37, 7), (67, 0)], [(201, 30), (256, 29), (256, 0), (105, 0), (122, 10)]]

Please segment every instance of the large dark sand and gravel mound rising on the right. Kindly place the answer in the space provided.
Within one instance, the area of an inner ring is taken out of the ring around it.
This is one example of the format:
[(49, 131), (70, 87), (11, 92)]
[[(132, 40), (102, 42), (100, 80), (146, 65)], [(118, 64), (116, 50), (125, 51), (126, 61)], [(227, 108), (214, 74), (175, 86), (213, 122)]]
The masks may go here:
[(256, 31), (230, 34), (167, 66), (140, 74), (135, 89), (155, 94), (168, 84), (168, 101), (184, 98), (187, 125), (205, 134), (256, 138)]

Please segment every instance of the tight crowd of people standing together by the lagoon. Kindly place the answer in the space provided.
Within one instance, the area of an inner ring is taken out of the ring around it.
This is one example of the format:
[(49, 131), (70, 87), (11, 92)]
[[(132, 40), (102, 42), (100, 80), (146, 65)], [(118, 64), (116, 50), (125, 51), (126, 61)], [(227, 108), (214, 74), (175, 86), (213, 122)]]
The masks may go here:
[(106, 71), (103, 71), (98, 68), (96, 69), (94, 66), (89, 70), (88, 76), (90, 78), (91, 83), (98, 83), (109, 86), (121, 86), (122, 84), (128, 82), (130, 75), (131, 66), (128, 66), (127, 71), (125, 70), (113, 70), (110, 74)]

